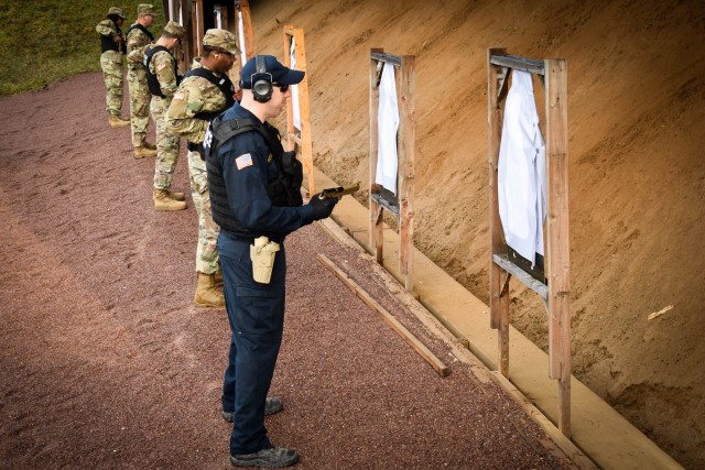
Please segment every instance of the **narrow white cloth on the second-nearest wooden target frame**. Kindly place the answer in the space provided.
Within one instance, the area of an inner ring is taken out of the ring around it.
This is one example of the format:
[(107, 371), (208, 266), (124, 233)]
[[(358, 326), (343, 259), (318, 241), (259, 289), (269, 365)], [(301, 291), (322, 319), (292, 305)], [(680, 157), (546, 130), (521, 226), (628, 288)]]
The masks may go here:
[(397, 195), (397, 131), (399, 130), (399, 106), (394, 66), (384, 64), (379, 84), (379, 108), (377, 110), (377, 173), (375, 183)]

